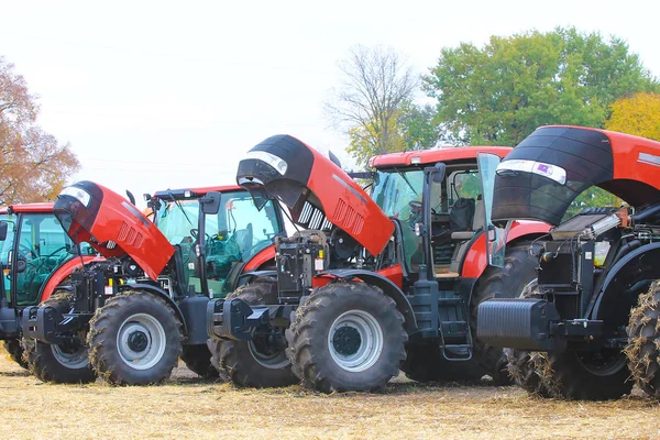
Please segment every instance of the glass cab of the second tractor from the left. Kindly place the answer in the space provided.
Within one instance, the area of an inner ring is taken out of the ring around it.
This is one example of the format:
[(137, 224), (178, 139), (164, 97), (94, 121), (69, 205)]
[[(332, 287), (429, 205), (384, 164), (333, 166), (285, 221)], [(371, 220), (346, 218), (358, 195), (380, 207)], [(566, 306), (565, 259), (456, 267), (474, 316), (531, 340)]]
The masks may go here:
[[(218, 210), (205, 212), (199, 201), (211, 190), (218, 193)], [(158, 191), (150, 206), (154, 223), (180, 254), (183, 285), (210, 297), (229, 294), (248, 264), (272, 258), (273, 240), (284, 230), (272, 200), (257, 210), (240, 187)]]

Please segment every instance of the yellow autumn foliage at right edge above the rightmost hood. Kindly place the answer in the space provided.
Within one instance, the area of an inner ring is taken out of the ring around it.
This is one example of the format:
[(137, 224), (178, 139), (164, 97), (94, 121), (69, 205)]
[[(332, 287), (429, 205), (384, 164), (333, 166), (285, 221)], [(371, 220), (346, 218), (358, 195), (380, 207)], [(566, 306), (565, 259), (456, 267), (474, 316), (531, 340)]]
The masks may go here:
[(605, 128), (660, 141), (660, 95), (641, 92), (616, 100)]

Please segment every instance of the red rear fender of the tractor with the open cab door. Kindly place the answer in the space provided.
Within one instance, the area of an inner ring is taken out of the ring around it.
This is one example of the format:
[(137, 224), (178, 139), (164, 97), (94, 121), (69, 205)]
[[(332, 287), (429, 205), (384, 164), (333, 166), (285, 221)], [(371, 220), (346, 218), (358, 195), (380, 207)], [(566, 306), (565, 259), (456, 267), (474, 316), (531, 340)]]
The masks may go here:
[[(534, 240), (550, 231), (550, 226), (538, 221), (514, 220), (508, 228), (506, 243), (513, 244), (521, 240)], [(479, 278), (488, 266), (486, 257), (486, 234), (481, 233), (473, 239), (470, 250), (465, 253), (461, 267), (461, 276), (465, 278)]]

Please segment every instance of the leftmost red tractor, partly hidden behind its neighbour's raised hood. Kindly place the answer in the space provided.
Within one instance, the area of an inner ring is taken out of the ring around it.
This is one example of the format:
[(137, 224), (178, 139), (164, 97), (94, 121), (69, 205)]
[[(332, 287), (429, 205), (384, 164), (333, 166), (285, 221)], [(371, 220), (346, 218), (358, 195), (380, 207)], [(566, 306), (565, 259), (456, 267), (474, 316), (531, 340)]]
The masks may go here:
[[(11, 205), (0, 208), (0, 339), (12, 360), (28, 367), (21, 346), (20, 318), (25, 307), (67, 290), (74, 268), (95, 260), (89, 245), (76, 246), (64, 232), (53, 204)], [(77, 353), (53, 345), (54, 362), (78, 362)]]

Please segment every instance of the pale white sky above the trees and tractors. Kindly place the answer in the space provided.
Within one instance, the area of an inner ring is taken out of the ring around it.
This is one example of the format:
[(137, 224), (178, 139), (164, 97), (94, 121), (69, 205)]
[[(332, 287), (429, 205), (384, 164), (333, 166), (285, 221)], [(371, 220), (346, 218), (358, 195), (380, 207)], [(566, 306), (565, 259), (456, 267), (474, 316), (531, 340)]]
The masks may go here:
[(428, 73), (443, 47), (575, 26), (615, 35), (660, 77), (657, 1), (0, 0), (0, 56), (38, 96), (38, 123), (120, 194), (234, 183), (245, 152), (290, 134), (337, 154), (323, 102), (358, 44)]

